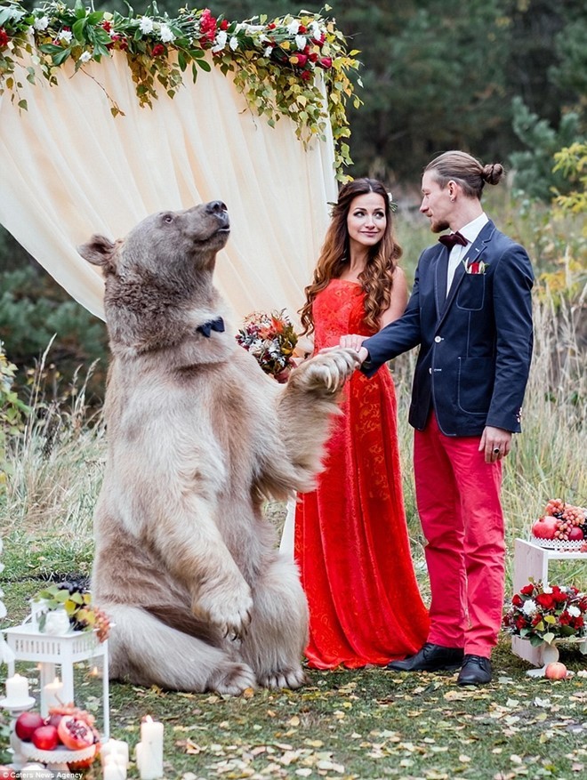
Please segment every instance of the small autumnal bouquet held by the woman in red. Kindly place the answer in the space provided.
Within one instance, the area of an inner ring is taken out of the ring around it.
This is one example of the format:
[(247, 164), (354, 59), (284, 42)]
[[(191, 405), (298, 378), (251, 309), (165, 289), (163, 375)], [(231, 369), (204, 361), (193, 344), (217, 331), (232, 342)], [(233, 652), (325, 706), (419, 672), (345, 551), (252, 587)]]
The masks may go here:
[(285, 310), (273, 311), (270, 315), (253, 311), (245, 317), (235, 338), (257, 359), (266, 374), (274, 376), (278, 382), (287, 379), (289, 370), (294, 367), (292, 355), (298, 337)]

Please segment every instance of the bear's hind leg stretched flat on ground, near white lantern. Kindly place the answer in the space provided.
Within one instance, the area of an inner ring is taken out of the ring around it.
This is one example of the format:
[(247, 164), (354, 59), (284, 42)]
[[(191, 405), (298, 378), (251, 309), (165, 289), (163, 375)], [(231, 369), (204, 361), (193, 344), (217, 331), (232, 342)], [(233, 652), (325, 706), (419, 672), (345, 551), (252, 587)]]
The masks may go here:
[(135, 685), (238, 696), (255, 687), (253, 670), (221, 647), (165, 625), (141, 607), (105, 604), (112, 623), (109, 673)]

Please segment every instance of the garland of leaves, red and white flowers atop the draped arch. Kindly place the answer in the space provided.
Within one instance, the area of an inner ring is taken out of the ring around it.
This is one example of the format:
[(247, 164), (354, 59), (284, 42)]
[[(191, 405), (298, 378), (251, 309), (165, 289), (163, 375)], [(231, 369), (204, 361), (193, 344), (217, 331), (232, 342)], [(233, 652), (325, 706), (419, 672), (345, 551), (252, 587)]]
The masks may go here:
[[(237, 90), (249, 106), (273, 126), (282, 116), (290, 117), (302, 142), (325, 138), (328, 119), (335, 145), (337, 178), (344, 180), (342, 167), (349, 165), (350, 136), (346, 116), (348, 101), (361, 104), (354, 93), (349, 73), (358, 70), (357, 50), (347, 43), (334, 20), (320, 13), (301, 12), (268, 20), (266, 16), (246, 21), (229, 21), (209, 9), (181, 8), (176, 18), (161, 14), (157, 4), (144, 14), (94, 11), (76, 0), (73, 8), (62, 2), (45, 2), (32, 11), (15, 0), (0, 0), (0, 94), (12, 92), (21, 109), (22, 86), (17, 65), (23, 52), (32, 55), (50, 84), (57, 84), (55, 71), (67, 60), (76, 71), (90, 60), (100, 62), (112, 51), (125, 52), (141, 106), (152, 108), (157, 99), (157, 82), (173, 98), (190, 68), (196, 81), (198, 69), (210, 71), (206, 52), (224, 75), (231, 73)], [(330, 6), (325, 6), (329, 11)], [(35, 83), (36, 69), (24, 68)], [(326, 87), (326, 107), (317, 74)], [(357, 79), (360, 85), (360, 79)], [(111, 112), (124, 112), (114, 101)]]

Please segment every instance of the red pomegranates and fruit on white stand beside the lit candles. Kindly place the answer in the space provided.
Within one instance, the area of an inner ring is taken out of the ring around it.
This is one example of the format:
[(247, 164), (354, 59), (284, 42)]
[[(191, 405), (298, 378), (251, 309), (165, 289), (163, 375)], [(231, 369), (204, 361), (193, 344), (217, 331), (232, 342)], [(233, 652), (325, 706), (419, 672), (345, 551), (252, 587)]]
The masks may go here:
[(28, 759), (44, 764), (67, 764), (71, 771), (89, 767), (100, 747), (93, 716), (73, 704), (39, 712), (21, 712), (14, 723), (19, 749)]

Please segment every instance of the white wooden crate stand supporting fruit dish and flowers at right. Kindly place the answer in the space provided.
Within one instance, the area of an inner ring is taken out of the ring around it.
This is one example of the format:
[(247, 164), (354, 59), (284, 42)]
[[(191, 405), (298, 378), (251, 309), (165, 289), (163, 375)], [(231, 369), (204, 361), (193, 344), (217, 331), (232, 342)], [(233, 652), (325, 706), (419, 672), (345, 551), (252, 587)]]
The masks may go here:
[[(544, 585), (547, 584), (549, 581), (548, 565), (551, 560), (583, 560), (584, 563), (587, 563), (587, 553), (549, 550), (524, 539), (516, 539), (513, 567), (514, 593), (521, 591), (527, 585), (530, 577), (533, 577), (535, 582), (542, 580)], [(587, 639), (581, 642), (579, 648), (582, 653), (587, 653)], [(512, 636), (511, 649), (520, 658), (534, 666), (543, 666), (545, 663), (543, 647), (532, 647), (527, 639)]]

